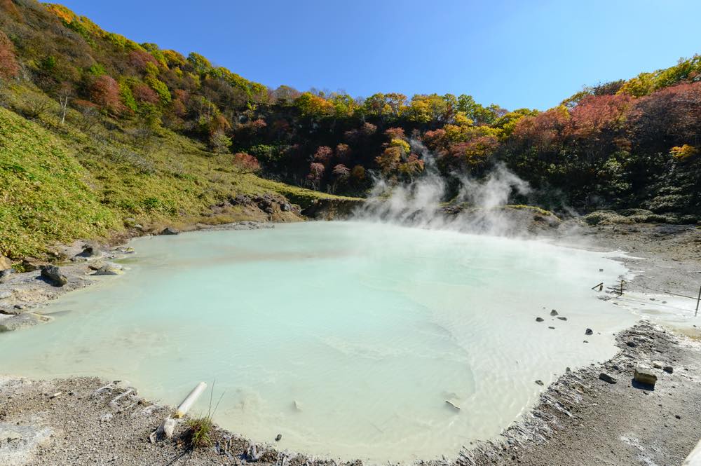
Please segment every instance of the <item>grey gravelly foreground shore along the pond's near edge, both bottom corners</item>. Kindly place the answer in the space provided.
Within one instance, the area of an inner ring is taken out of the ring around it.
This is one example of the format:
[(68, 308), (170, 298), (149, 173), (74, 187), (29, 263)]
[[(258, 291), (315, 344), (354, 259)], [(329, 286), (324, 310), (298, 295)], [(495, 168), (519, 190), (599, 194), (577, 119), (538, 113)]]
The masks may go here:
[[(699, 437), (701, 345), (648, 324), (621, 332), (618, 345), (620, 353), (605, 364), (567, 372), (550, 385), (503, 439), (424, 464), (681, 465)], [(654, 387), (633, 381), (639, 367), (658, 378)], [(339, 464), (218, 429), (211, 446), (191, 451), (186, 420), (172, 439), (151, 443), (151, 432), (172, 412), (118, 381), (0, 378), (0, 464)]]

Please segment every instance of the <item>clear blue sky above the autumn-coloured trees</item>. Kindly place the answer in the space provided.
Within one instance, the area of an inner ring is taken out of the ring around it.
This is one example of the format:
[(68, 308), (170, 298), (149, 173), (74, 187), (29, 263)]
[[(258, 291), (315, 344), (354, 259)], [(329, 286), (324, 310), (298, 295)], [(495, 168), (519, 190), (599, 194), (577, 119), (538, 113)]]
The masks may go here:
[(701, 53), (701, 0), (56, 0), (273, 88), (545, 109)]

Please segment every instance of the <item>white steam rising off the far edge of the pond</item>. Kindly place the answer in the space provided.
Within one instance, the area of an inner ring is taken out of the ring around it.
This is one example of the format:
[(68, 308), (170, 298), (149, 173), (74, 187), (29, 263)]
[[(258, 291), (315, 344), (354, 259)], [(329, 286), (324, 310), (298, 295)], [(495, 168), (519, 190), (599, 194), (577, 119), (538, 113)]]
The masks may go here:
[(421, 177), (397, 185), (376, 179), (367, 203), (355, 212), (355, 218), (492, 235), (522, 232), (524, 214), (530, 214), (515, 216), (501, 207), (513, 193), (525, 195), (531, 189), (505, 165), (496, 165), (483, 180), (453, 174), (459, 189), (457, 196), (448, 200), (447, 181), (438, 171), (433, 153), (416, 139), (411, 140), (411, 148), (422, 155), (425, 168)]

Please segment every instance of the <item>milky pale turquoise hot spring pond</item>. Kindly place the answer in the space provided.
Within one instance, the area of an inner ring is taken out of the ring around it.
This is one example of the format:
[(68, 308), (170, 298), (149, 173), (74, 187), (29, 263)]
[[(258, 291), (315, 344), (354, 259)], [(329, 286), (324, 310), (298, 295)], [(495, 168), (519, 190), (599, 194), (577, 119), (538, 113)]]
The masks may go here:
[(608, 359), (635, 321), (590, 290), (620, 263), (543, 242), (331, 222), (132, 246), (127, 274), (1, 335), (1, 372), (128, 380), (169, 404), (216, 379), (215, 420), (233, 432), (410, 461), (497, 436), (544, 390), (534, 381)]

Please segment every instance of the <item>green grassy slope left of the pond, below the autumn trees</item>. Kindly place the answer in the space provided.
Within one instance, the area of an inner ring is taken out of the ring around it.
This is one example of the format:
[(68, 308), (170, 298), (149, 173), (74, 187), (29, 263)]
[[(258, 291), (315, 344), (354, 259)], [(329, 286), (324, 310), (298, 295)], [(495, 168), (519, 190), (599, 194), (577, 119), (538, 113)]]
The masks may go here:
[(54, 242), (107, 238), (139, 223), (157, 227), (247, 219), (243, 212), (211, 217), (210, 206), (237, 194), (280, 193), (308, 205), (325, 193), (261, 179), (238, 169), (231, 154), (215, 154), (168, 130), (144, 131), (69, 110), (27, 85), (3, 91), (0, 107), (0, 254), (46, 252)]

